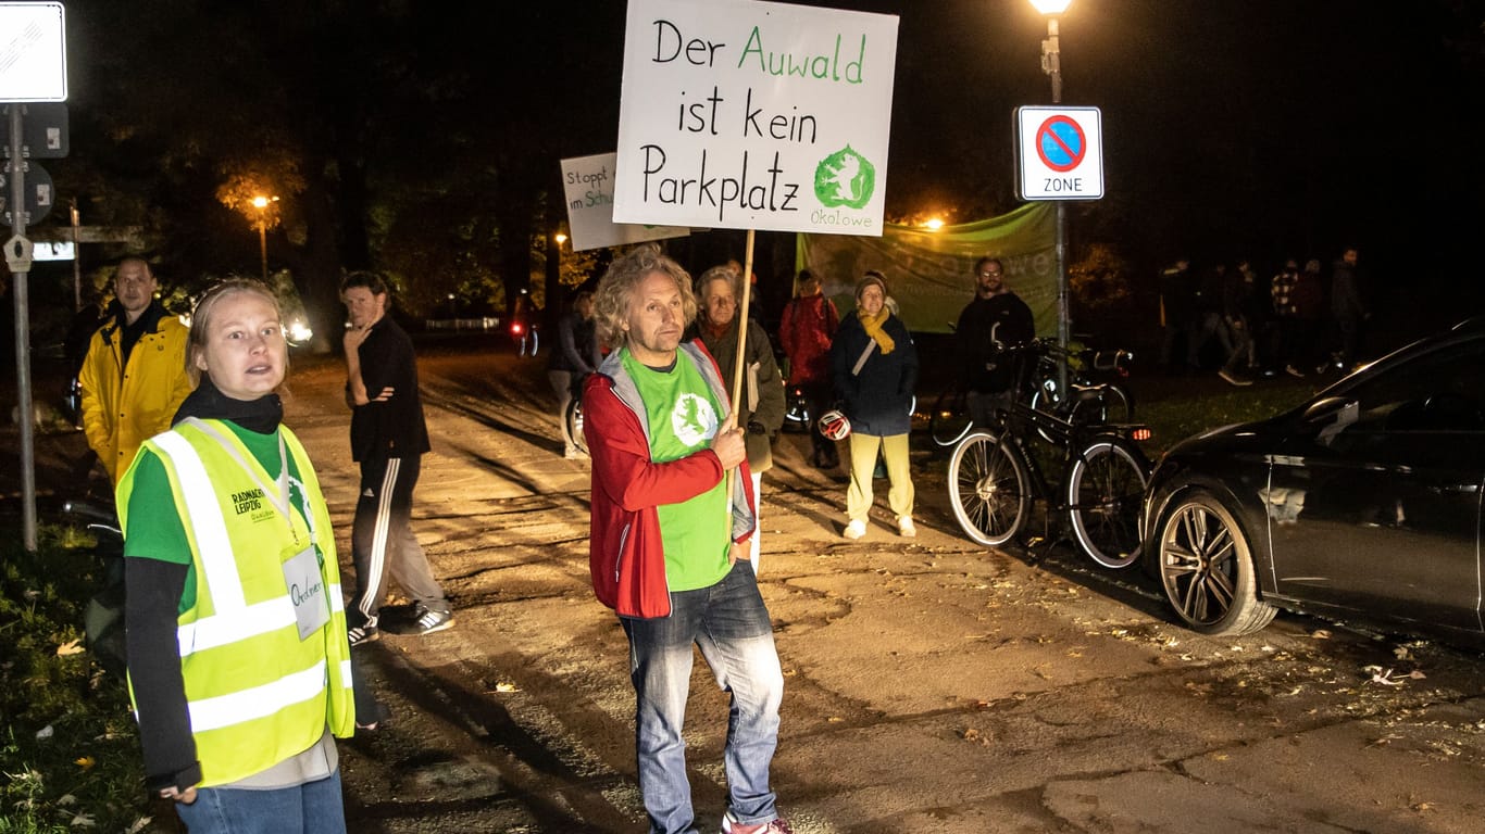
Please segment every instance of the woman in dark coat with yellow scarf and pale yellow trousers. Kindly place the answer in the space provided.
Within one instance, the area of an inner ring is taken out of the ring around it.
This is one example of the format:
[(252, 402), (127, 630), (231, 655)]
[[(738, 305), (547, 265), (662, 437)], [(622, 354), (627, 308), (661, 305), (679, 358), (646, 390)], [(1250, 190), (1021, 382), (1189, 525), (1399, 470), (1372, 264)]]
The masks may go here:
[(887, 307), (887, 279), (869, 270), (855, 285), (855, 312), (845, 316), (830, 346), (830, 377), (851, 420), (851, 485), (845, 493), (846, 539), (866, 536), (872, 472), (881, 450), (891, 488), (887, 503), (900, 536), (916, 536), (913, 482), (907, 467), (918, 349), (907, 326)]

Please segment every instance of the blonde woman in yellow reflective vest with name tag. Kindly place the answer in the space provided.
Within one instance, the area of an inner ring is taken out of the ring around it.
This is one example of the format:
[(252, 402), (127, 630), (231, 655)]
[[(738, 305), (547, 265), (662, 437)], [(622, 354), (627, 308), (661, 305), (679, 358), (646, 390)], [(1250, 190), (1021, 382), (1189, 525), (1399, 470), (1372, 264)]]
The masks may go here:
[(146, 785), (192, 834), (340, 834), (350, 647), (325, 497), (281, 423), (273, 294), (206, 292), (187, 364), (196, 390), (117, 487)]

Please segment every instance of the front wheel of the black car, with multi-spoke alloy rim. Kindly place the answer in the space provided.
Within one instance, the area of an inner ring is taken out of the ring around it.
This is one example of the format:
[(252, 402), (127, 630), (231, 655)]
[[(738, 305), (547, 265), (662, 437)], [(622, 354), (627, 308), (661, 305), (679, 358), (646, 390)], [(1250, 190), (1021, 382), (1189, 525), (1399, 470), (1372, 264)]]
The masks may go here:
[(1258, 598), (1247, 536), (1210, 493), (1182, 496), (1164, 515), (1160, 582), (1181, 622), (1201, 634), (1250, 634), (1277, 613)]

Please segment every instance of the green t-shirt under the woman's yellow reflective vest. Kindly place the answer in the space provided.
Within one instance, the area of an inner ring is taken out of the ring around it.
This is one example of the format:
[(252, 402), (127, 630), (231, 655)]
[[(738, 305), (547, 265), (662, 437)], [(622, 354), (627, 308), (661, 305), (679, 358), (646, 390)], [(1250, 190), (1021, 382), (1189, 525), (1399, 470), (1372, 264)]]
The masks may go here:
[[(270, 478), (278, 478), (278, 432), (260, 435), (249, 432), (232, 421), (223, 421), (232, 429), (242, 445), (248, 447), (252, 457), (263, 464)], [(290, 500), (294, 506), (304, 506), (304, 496), (300, 491), (298, 466), (294, 456), (288, 456)], [(267, 502), (263, 502), (267, 506)], [(186, 525), (175, 509), (175, 499), (171, 494), (171, 478), (165, 473), (165, 463), (148, 448), (140, 450), (140, 460), (134, 464), (134, 493), (129, 494), (129, 537), (123, 543), (123, 555), (144, 559), (159, 559), (187, 567), (186, 589), (181, 592), (181, 604), (177, 613), (184, 613), (196, 605), (196, 565), (190, 558), (190, 542), (186, 539)], [(162, 512), (166, 510), (166, 512)]]

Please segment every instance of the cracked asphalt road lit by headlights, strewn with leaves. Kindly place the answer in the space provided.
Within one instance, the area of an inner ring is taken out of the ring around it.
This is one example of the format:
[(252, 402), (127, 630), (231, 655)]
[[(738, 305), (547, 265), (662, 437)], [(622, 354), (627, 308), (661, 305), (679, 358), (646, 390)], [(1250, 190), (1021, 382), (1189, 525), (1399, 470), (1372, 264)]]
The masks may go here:
[[(457, 623), (365, 650), (392, 720), (342, 745), (350, 830), (643, 831), (627, 647), (588, 586), (588, 464), (561, 457), (545, 364), (493, 338), (420, 352), (414, 530)], [(287, 420), (347, 562), (342, 370), (297, 364)], [(1139, 574), (968, 542), (927, 450), (918, 539), (879, 506), (845, 542), (843, 472), (806, 445), (783, 435), (765, 475), (760, 568), (787, 675), (774, 787), (800, 834), (1479, 830), (1479, 654), (1289, 614), (1182, 631)], [(688, 712), (716, 831), (726, 696), (701, 662)]]

